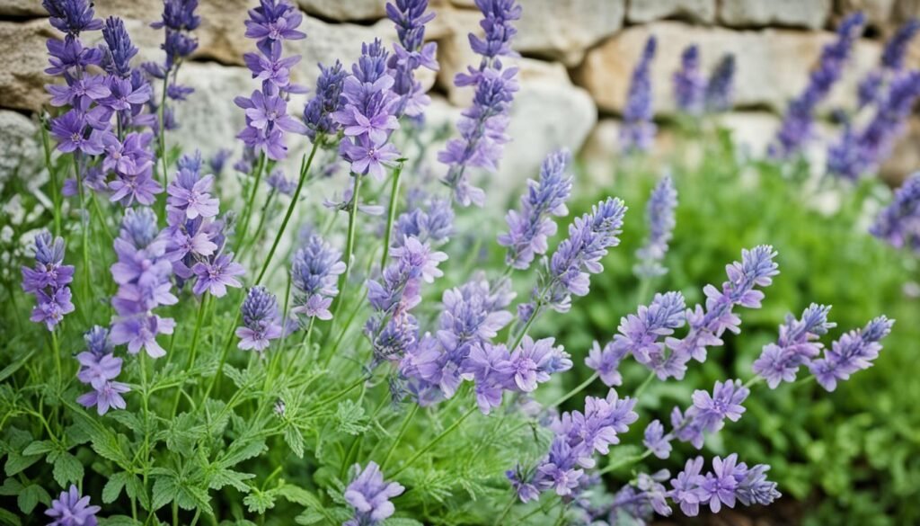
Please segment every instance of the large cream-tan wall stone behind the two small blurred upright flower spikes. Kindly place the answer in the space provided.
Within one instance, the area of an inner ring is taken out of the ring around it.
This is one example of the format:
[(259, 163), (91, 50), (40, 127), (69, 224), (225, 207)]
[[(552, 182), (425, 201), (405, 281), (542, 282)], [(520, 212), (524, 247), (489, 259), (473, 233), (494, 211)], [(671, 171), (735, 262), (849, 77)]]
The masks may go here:
[[(829, 32), (701, 28), (679, 22), (634, 26), (593, 49), (576, 72), (578, 83), (591, 92), (602, 110), (623, 110), (631, 72), (650, 35), (659, 40), (651, 68), (654, 105), (659, 115), (674, 111), (672, 75), (680, 53), (691, 43), (699, 45), (707, 71), (725, 53), (736, 54), (736, 106), (768, 107), (778, 112), (804, 88), (822, 46), (834, 38)], [(860, 41), (826, 106), (852, 105), (858, 79), (877, 63), (879, 53), (877, 42)]]

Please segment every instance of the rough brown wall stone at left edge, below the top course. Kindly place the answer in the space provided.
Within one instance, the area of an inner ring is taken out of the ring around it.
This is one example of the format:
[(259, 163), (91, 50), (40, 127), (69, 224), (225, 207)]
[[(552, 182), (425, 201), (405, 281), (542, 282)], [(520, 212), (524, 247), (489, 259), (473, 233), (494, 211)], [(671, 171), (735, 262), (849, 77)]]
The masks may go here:
[(45, 41), (54, 37), (46, 19), (28, 22), (0, 21), (0, 107), (38, 111), (47, 100), (44, 69), (48, 58)]

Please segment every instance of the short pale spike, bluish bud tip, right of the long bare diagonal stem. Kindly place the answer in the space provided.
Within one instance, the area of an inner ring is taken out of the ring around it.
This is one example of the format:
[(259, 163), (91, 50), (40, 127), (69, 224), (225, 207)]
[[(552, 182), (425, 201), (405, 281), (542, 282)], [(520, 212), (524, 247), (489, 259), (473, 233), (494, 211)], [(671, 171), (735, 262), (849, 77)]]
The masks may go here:
[(334, 250), (322, 238), (310, 236), (304, 247), (293, 257), (291, 279), (295, 290), (295, 314), (307, 318), (331, 320), (329, 306), (339, 294), (339, 275), (345, 272), (341, 253)]

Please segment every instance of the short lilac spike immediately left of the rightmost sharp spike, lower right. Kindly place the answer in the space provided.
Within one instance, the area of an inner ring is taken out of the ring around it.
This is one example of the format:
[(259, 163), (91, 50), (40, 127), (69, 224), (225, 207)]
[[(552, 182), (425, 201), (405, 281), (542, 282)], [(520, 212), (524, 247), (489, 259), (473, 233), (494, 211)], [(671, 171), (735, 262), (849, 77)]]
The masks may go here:
[(827, 321), (830, 307), (812, 303), (802, 312), (799, 320), (788, 314), (779, 326), (776, 344), (767, 344), (760, 357), (753, 362), (753, 372), (762, 376), (770, 389), (783, 381), (795, 381), (800, 366), (808, 366), (811, 359), (821, 354), (822, 344), (816, 342), (836, 323)]

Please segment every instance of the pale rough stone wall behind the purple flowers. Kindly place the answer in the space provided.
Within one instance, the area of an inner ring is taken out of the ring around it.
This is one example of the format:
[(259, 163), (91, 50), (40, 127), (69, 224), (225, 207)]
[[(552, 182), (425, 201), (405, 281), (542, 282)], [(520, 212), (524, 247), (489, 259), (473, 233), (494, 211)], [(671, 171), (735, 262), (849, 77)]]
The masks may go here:
[[(296, 0), (305, 12), (305, 41), (288, 42), (304, 56), (296, 68), (299, 82), (312, 85), (316, 62), (351, 62), (362, 41), (395, 38), (383, 19), (385, 0)], [(212, 153), (234, 147), (243, 123), (232, 99), (254, 84), (242, 63), (252, 42), (243, 38), (243, 20), (254, 0), (201, 0), (200, 47), (180, 72), (197, 89), (178, 106), (182, 128), (174, 134), (183, 145)], [(777, 113), (803, 87), (822, 45), (833, 38), (844, 13), (862, 9), (868, 37), (857, 44), (827, 105), (851, 106), (859, 76), (876, 64), (881, 41), (904, 20), (920, 14), (920, 0), (522, 0), (523, 19), (515, 47), (523, 55), (521, 91), (514, 101), (511, 134), (500, 181), (511, 186), (535, 173), (551, 149), (568, 146), (588, 156), (615, 152), (616, 115), (623, 109), (630, 72), (646, 38), (657, 35), (660, 51), (652, 69), (656, 112), (673, 113), (671, 75), (684, 46), (697, 43), (706, 68), (723, 53), (736, 53), (736, 107), (725, 123), (754, 151), (762, 151), (776, 128)], [(466, 34), (477, 31), (473, 0), (431, 0), (438, 17), (428, 37), (439, 43), (442, 69), (424, 82), (432, 87), (431, 123), (453, 122), (468, 103), (468, 89), (454, 88), (454, 73), (474, 64)], [(138, 60), (161, 60), (162, 34), (148, 23), (158, 18), (158, 0), (97, 0), (98, 16), (125, 18)], [(39, 0), (0, 0), (0, 180), (19, 163), (40, 162), (32, 138), (34, 113), (46, 101), (42, 70), (44, 41), (53, 36)], [(99, 33), (96, 33), (99, 35)], [(100, 37), (99, 37), (100, 38)], [(920, 40), (920, 39), (918, 39)], [(920, 64), (920, 44), (911, 53)], [(299, 105), (298, 105), (299, 106)], [(296, 107), (296, 106), (295, 106)], [(886, 170), (903, 176), (920, 158), (915, 138), (920, 125), (899, 146)], [(586, 146), (587, 145), (587, 146)], [(601, 174), (602, 176), (604, 174)]]

